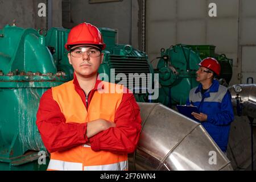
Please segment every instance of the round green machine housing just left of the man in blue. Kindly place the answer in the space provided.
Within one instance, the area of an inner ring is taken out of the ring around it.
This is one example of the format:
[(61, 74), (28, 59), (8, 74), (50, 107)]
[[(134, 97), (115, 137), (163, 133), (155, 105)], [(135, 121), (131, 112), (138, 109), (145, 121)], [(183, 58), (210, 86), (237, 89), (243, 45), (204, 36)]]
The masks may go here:
[(196, 81), (197, 64), (200, 56), (181, 44), (161, 49), (161, 57), (156, 73), (159, 73), (158, 102), (166, 106), (185, 104), (189, 90), (198, 85)]

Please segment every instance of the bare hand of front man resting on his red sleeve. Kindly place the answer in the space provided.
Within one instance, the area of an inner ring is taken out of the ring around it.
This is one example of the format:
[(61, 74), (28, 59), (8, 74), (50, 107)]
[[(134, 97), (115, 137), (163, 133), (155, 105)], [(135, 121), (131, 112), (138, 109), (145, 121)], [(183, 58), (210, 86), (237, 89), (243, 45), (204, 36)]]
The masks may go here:
[(101, 131), (109, 129), (110, 127), (115, 127), (115, 123), (107, 121), (106, 119), (96, 119), (94, 121), (90, 121), (87, 123), (86, 136), (90, 138)]

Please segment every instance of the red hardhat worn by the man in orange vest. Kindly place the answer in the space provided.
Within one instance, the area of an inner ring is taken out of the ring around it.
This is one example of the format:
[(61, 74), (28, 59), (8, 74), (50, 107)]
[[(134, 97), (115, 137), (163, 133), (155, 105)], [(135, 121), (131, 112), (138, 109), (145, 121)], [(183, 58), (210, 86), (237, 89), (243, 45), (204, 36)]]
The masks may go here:
[(80, 23), (71, 29), (68, 34), (68, 41), (65, 44), (65, 48), (69, 51), (71, 46), (79, 44), (92, 44), (99, 47), (101, 50), (106, 47), (98, 28), (85, 22)]

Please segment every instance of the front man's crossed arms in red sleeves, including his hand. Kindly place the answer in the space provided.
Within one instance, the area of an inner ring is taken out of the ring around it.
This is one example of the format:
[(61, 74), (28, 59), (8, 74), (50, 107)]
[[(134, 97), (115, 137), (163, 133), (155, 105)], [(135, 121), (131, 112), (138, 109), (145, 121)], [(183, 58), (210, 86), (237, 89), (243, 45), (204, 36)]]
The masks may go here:
[(65, 123), (51, 89), (47, 90), (40, 100), (36, 120), (47, 150), (67, 150), (89, 142), (94, 151), (133, 152), (141, 132), (141, 116), (133, 94), (123, 95), (114, 122), (99, 118), (88, 123)]

